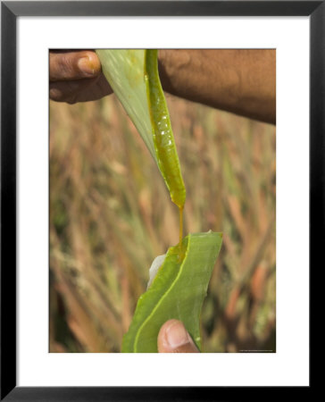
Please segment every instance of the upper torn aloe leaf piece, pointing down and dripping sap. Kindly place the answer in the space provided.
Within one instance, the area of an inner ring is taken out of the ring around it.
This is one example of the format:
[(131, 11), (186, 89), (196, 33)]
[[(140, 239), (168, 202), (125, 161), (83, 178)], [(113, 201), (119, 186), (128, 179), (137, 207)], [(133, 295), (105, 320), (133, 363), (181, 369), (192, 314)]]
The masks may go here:
[(153, 155), (172, 202), (182, 208), (186, 191), (159, 80), (157, 50), (97, 49), (96, 54), (106, 80)]

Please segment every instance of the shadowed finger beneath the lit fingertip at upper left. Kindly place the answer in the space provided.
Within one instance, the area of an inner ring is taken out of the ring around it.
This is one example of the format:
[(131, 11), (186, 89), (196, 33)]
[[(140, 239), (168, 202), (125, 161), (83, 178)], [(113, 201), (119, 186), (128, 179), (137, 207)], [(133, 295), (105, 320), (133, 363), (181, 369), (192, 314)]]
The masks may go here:
[(101, 74), (99, 77), (90, 80), (50, 82), (49, 92), (50, 99), (56, 102), (74, 104), (100, 99), (111, 94), (112, 88), (104, 75)]

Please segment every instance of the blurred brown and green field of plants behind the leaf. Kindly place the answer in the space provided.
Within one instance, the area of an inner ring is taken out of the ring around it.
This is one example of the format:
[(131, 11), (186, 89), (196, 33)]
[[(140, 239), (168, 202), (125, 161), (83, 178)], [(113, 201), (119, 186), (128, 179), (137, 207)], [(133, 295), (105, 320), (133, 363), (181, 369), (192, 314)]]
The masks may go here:
[[(275, 352), (275, 127), (166, 96), (185, 234), (222, 231), (204, 352)], [(50, 352), (120, 352), (179, 215), (117, 98), (50, 102)]]

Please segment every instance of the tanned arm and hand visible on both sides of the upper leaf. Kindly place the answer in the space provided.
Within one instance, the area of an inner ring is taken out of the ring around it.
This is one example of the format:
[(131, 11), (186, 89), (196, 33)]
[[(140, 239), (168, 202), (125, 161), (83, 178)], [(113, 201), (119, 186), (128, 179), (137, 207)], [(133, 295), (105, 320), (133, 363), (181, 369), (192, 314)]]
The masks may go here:
[[(172, 95), (275, 123), (275, 50), (171, 49), (158, 58), (162, 88)], [(94, 52), (50, 52), (51, 99), (75, 103), (110, 93)]]

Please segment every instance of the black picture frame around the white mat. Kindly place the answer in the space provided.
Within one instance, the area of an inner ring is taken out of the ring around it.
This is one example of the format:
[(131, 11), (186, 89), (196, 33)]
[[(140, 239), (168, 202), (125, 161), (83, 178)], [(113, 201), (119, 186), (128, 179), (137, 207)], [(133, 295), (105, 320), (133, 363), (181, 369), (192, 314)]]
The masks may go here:
[[(16, 387), (16, 19), (19, 16), (309, 16), (310, 272), (321, 259), (325, 201), (324, 1), (1, 2), (1, 400), (229, 400), (250, 387)], [(311, 308), (312, 314), (312, 308)], [(311, 373), (311, 372), (310, 372)], [(310, 382), (312, 385), (312, 381)], [(300, 392), (310, 391), (302, 387)], [(272, 396), (277, 387), (267, 390)], [(281, 389), (283, 393), (284, 389)], [(241, 398), (239, 398), (241, 399)]]

